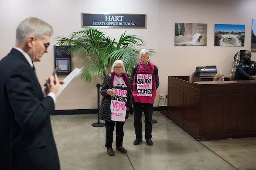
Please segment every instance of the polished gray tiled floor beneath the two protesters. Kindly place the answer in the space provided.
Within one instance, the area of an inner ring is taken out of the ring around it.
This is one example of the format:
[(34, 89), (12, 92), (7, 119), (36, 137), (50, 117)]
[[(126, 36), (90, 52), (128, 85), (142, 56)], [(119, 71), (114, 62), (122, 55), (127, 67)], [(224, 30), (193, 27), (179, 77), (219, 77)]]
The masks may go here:
[(133, 144), (134, 117), (129, 115), (123, 140), (127, 153), (113, 148), (115, 156), (108, 156), (105, 127), (92, 126), (96, 114), (52, 116), (61, 170), (256, 170), (255, 137), (198, 142), (161, 113), (155, 111), (153, 119), (158, 122), (152, 146), (145, 140)]

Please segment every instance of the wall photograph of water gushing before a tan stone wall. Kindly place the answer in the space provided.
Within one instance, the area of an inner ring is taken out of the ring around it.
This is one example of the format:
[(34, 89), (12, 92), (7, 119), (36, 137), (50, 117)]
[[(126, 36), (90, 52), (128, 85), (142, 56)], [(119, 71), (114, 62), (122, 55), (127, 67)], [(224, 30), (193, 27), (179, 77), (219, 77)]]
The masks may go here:
[(206, 46), (207, 24), (175, 23), (175, 40), (177, 46)]

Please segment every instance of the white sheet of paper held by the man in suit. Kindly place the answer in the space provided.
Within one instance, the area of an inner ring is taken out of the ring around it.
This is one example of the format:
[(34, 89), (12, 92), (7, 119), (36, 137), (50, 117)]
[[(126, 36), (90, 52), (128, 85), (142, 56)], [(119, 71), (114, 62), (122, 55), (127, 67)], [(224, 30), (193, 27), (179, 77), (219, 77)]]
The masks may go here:
[(74, 81), (74, 79), (76, 79), (76, 77), (79, 77), (79, 75), (82, 73), (84, 67), (82, 68), (75, 68), (69, 75), (67, 75), (67, 77), (65, 77), (65, 79), (63, 79), (63, 81), (65, 82), (63, 85), (61, 85), (61, 87), (58, 90), (58, 93), (56, 95), (56, 97), (58, 97), (58, 95), (61, 94), (61, 92), (68, 86), (70, 85), (71, 82)]

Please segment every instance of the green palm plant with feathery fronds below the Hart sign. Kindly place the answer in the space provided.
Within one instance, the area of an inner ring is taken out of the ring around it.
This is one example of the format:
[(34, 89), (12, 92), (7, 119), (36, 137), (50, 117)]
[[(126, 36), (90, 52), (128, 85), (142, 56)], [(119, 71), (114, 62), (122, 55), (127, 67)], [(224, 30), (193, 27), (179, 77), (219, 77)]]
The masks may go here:
[[(122, 34), (119, 41), (111, 40), (104, 32), (88, 28), (73, 32), (69, 38), (57, 37), (58, 46), (71, 46), (68, 54), (84, 57), (84, 70), (81, 79), (90, 82), (93, 77), (103, 76), (111, 72), (116, 59), (123, 61), (125, 72), (131, 74), (132, 67), (139, 61), (139, 52), (144, 48), (144, 41), (137, 35)], [(154, 53), (154, 51), (150, 51)]]

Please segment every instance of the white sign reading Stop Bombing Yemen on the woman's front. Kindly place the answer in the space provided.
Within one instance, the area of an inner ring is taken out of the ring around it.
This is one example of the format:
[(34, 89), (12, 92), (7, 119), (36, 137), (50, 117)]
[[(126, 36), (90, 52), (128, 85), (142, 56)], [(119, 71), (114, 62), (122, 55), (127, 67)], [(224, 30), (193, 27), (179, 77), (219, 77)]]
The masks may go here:
[(125, 122), (127, 91), (120, 89), (113, 89), (116, 96), (111, 97), (111, 120), (118, 122)]

